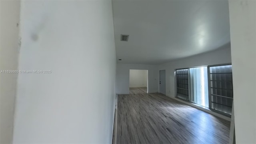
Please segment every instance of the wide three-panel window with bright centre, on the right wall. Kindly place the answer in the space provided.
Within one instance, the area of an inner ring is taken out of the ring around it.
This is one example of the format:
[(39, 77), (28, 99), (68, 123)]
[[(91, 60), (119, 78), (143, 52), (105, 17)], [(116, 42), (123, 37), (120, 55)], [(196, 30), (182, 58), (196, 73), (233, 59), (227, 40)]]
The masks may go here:
[(232, 65), (176, 70), (176, 97), (231, 115)]

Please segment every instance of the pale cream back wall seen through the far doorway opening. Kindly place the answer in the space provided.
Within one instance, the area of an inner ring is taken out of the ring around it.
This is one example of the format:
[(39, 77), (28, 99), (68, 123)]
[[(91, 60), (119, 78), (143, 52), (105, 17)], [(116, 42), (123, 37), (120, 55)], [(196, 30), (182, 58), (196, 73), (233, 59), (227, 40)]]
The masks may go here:
[(130, 88), (143, 88), (148, 85), (148, 70), (130, 70)]

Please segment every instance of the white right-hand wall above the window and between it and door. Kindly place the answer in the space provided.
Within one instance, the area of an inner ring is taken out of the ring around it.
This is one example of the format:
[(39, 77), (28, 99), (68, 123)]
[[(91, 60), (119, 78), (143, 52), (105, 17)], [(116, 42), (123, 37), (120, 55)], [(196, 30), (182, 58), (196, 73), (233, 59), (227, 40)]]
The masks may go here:
[(175, 96), (175, 69), (225, 63), (231, 63), (230, 44), (226, 44), (222, 48), (212, 52), (198, 54), (196, 56), (159, 65), (159, 70), (166, 70), (166, 95), (172, 97)]

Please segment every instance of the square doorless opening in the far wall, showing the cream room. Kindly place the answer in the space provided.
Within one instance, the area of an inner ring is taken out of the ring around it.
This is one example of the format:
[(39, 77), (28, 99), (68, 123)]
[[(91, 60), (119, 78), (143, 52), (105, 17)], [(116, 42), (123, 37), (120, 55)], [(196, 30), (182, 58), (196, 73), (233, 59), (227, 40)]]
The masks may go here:
[(148, 70), (130, 70), (130, 94), (148, 93)]

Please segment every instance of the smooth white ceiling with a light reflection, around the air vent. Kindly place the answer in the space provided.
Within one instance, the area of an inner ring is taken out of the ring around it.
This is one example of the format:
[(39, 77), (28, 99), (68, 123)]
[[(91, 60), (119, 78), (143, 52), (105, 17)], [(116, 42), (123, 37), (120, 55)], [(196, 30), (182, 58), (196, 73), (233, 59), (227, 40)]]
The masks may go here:
[[(113, 0), (116, 56), (161, 64), (230, 42), (228, 0)], [(128, 42), (120, 34), (129, 34)]]

